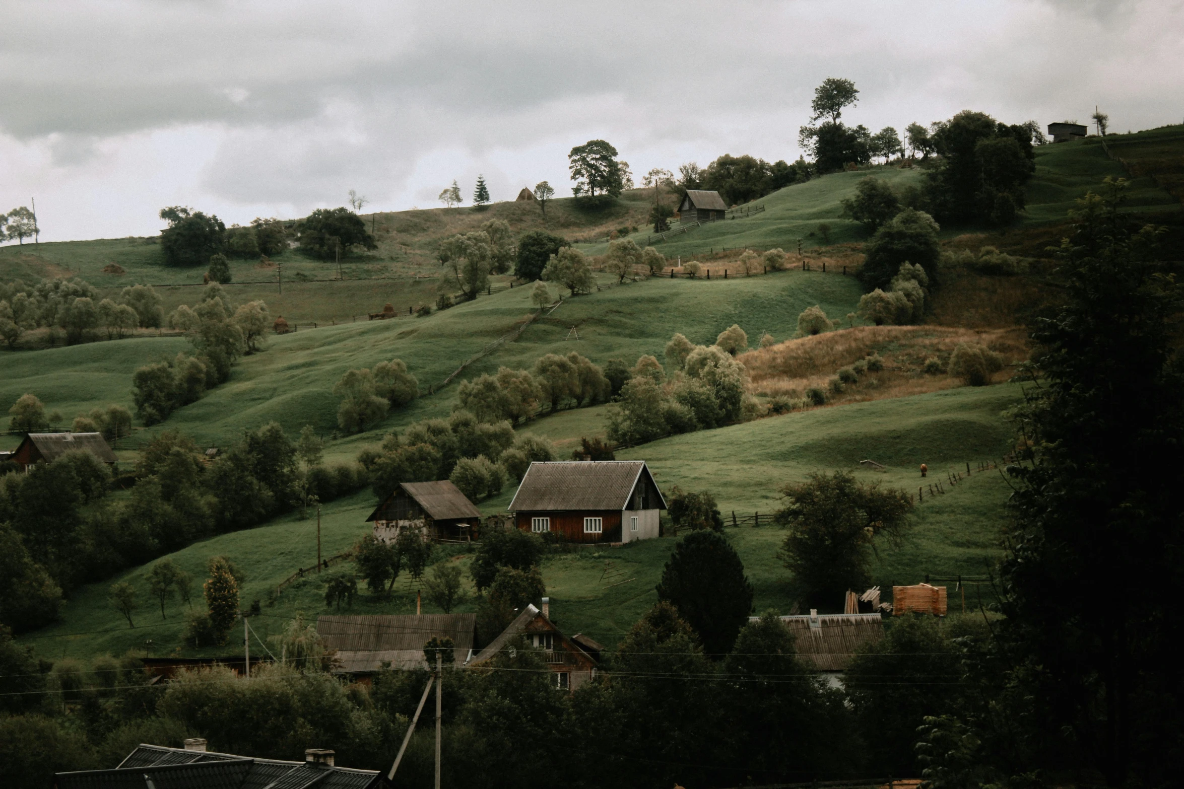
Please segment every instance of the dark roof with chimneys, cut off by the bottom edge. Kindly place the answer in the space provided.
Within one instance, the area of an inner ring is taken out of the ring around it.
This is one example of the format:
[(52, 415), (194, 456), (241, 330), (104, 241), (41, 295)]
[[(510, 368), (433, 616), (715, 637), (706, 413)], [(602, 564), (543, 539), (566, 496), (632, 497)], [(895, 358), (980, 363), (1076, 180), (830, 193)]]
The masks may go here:
[(58, 789), (372, 789), (374, 770), (140, 745), (114, 770), (58, 772)]

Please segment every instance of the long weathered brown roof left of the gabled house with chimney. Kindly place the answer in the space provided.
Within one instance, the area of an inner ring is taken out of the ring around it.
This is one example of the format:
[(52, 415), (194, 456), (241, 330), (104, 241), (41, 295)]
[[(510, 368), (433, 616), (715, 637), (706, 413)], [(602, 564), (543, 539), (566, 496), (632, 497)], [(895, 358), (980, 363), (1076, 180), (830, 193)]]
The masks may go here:
[(335, 673), (355, 674), (392, 668), (422, 668), (424, 644), (432, 636), (452, 639), (457, 665), (472, 651), (476, 614), (414, 614), (388, 616), (318, 616), (316, 632), (340, 661)]

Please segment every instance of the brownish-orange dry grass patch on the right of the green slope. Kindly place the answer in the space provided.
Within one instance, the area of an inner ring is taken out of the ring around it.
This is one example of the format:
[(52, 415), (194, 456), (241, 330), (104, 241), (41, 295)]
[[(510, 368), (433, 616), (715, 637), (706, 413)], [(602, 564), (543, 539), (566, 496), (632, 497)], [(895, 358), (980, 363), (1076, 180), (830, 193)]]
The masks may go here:
[[(749, 392), (758, 396), (799, 400), (817, 388), (826, 393), (829, 403), (860, 402), (963, 386), (945, 371), (960, 343), (978, 343), (1003, 356), (1005, 367), (992, 382), (1006, 381), (1011, 376), (1006, 366), (1028, 356), (1025, 334), (1015, 326), (976, 330), (924, 325), (841, 329), (751, 350), (738, 358), (748, 370)], [(883, 369), (860, 371), (854, 382), (835, 386), (839, 370), (873, 354), (880, 356)]]

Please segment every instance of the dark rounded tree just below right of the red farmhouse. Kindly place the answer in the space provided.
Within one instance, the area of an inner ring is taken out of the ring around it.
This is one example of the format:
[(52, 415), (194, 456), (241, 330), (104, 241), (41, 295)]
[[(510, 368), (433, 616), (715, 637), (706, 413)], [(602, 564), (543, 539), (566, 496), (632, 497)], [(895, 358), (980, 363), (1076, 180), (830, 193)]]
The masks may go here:
[(707, 529), (682, 538), (662, 571), (658, 600), (671, 603), (716, 659), (732, 651), (752, 609), (752, 584), (727, 538)]

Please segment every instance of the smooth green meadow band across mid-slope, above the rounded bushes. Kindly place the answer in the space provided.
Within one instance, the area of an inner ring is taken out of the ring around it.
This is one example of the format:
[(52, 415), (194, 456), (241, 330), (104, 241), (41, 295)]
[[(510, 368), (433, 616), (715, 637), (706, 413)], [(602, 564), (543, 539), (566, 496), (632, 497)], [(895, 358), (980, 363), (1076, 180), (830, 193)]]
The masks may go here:
[[(662, 356), (665, 342), (681, 331), (697, 343), (739, 323), (752, 341), (761, 331), (784, 338), (796, 330), (798, 313), (821, 304), (828, 313), (855, 309), (860, 289), (851, 277), (818, 272), (780, 272), (728, 280), (652, 279), (564, 302), (469, 368), (463, 377), (496, 371), (500, 366), (529, 367), (547, 353), (579, 351), (598, 363), (619, 357), (632, 363), (642, 354)], [(336, 429), (333, 384), (350, 368), (401, 358), (424, 392), (438, 384), (464, 360), (511, 330), (532, 312), (529, 289), (513, 289), (436, 312), (426, 318), (360, 322), (322, 326), (272, 337), (265, 351), (244, 357), (231, 380), (198, 402), (175, 412), (162, 427), (176, 427), (210, 445), (232, 440), (243, 428), (271, 420), (290, 433), (310, 423), (322, 433)], [(579, 339), (568, 339), (572, 326)], [(0, 403), (33, 392), (49, 409), (72, 419), (95, 405), (130, 406), (131, 370), (175, 355), (184, 342), (126, 339), (18, 354), (0, 354)], [(114, 362), (114, 363), (112, 363)], [(77, 371), (102, 369), (78, 386)], [(392, 426), (448, 413), (455, 384), (392, 414), (373, 435), (343, 441), (353, 452)]]

